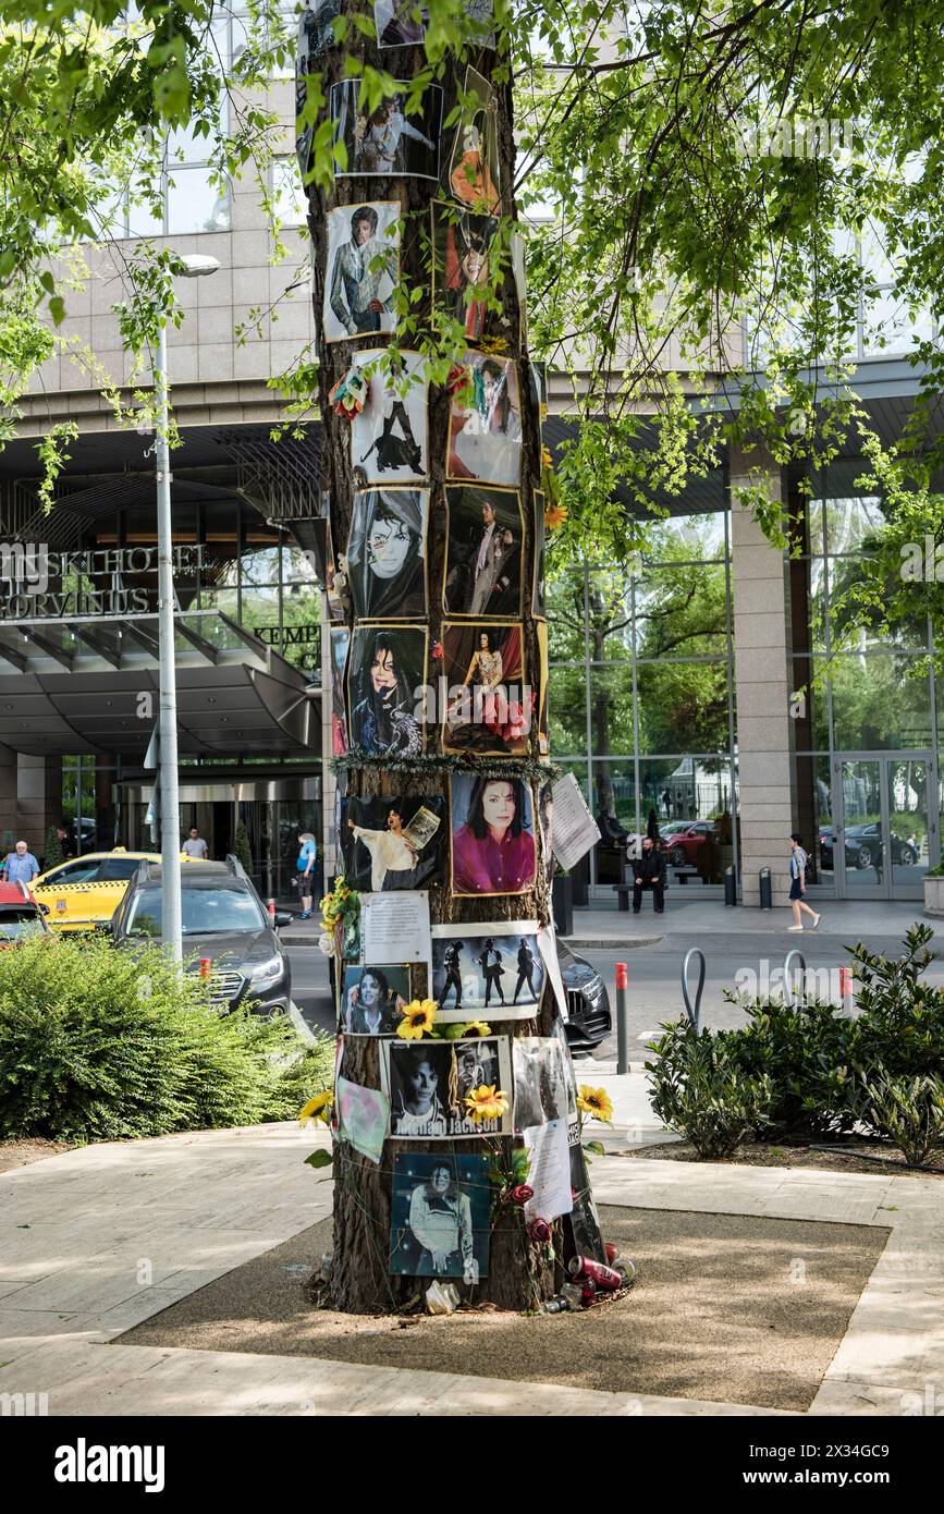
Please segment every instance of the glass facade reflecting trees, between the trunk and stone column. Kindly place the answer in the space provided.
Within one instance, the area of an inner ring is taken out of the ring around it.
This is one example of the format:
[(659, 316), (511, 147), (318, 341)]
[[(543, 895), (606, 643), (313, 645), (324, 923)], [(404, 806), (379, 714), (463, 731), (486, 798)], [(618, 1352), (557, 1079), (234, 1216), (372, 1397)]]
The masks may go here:
[(728, 515), (658, 524), (629, 572), (569, 569), (548, 621), (551, 752), (602, 833), (588, 881), (620, 883), (625, 836), (655, 824), (679, 884), (720, 883), (737, 861)]

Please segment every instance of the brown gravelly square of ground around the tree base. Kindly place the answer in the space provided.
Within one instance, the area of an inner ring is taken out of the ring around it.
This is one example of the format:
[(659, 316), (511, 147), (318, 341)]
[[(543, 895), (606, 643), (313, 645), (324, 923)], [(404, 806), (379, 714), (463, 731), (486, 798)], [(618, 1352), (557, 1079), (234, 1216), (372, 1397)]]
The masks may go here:
[(873, 1226), (673, 1210), (602, 1207), (601, 1220), (638, 1281), (579, 1314), (316, 1310), (307, 1281), (331, 1241), (321, 1220), (120, 1340), (802, 1411), (888, 1238)]

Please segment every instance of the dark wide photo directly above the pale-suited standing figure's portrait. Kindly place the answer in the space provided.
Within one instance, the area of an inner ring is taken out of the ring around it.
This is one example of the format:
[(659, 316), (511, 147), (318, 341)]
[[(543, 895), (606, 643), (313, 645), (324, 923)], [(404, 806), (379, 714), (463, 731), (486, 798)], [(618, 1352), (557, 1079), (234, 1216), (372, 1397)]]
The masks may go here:
[(442, 88), (427, 85), (421, 109), (407, 115), (411, 85), (396, 80), (396, 94), (369, 109), (360, 101), (360, 80), (331, 85), (331, 120), (336, 141), (346, 148), (346, 168), (337, 179), (439, 180)]

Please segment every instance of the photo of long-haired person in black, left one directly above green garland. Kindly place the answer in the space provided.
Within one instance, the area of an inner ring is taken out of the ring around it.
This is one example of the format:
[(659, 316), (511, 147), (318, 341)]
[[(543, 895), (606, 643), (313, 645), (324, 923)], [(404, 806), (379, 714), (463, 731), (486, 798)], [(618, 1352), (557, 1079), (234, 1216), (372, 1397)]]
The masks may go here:
[(427, 633), (418, 625), (356, 625), (348, 653), (348, 736), (371, 757), (424, 749)]

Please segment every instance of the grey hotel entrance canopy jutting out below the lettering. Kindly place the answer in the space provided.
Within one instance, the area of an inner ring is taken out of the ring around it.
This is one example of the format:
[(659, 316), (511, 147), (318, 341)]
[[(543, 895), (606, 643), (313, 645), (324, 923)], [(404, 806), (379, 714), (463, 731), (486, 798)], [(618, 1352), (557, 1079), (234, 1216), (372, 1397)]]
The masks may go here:
[[(182, 757), (316, 757), (318, 684), (218, 610), (175, 627)], [(0, 621), (0, 745), (133, 759), (157, 712), (156, 615)]]

